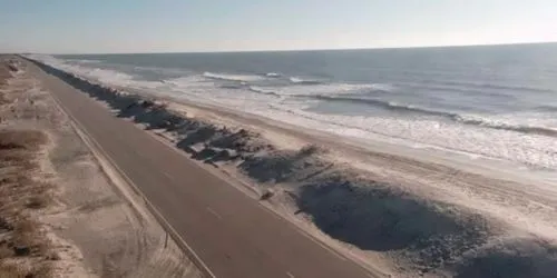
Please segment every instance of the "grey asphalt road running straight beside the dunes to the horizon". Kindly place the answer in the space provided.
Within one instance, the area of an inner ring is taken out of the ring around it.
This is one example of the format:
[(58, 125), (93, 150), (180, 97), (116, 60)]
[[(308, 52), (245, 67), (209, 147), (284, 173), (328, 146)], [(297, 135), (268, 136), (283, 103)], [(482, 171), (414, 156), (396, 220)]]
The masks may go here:
[(257, 200), (86, 93), (29, 62), (89, 137), (143, 191), (216, 277), (373, 277), (310, 239)]

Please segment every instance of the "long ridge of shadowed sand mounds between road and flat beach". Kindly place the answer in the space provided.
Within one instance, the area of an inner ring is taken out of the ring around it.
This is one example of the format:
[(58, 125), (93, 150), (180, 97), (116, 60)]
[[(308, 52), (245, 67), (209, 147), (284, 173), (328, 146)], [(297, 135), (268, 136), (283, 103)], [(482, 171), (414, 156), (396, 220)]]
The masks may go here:
[[(172, 133), (176, 147), (194, 159), (237, 167), (263, 189), (289, 188), (297, 214), (307, 215), (323, 232), (362, 250), (383, 254), (405, 270), (458, 277), (549, 277), (556, 272), (556, 247), (534, 238), (494, 245), (505, 225), (416, 196), (369, 172), (335, 165), (324, 159), (326, 150), (316, 146), (278, 150), (245, 129), (187, 117), (157, 101), (38, 64), (107, 102), (118, 117)], [(272, 195), (263, 199), (268, 198)]]

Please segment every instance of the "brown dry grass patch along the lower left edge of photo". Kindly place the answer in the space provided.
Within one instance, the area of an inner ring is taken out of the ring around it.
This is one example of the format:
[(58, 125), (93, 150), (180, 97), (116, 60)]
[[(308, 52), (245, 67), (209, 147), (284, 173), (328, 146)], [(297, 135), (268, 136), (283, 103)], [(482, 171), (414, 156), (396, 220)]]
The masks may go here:
[(51, 186), (31, 178), (47, 139), (37, 130), (0, 130), (0, 278), (52, 275), (57, 255), (31, 214), (51, 201)]

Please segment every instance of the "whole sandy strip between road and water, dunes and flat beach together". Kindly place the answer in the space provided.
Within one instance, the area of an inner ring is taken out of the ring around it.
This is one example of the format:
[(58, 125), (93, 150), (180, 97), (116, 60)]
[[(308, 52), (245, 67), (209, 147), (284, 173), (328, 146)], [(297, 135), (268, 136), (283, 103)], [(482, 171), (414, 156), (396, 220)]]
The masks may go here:
[[(285, 218), (397, 277), (551, 277), (557, 193), (229, 111), (163, 103), (48, 66), (117, 117), (236, 177)], [(213, 169), (213, 171), (215, 171)]]

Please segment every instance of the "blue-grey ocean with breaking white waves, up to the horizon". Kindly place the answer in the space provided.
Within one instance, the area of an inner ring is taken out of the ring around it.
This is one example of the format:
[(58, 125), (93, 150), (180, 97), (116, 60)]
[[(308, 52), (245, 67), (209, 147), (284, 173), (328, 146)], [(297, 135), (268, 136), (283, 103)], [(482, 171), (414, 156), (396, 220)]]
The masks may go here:
[(359, 141), (557, 170), (557, 43), (35, 58)]

